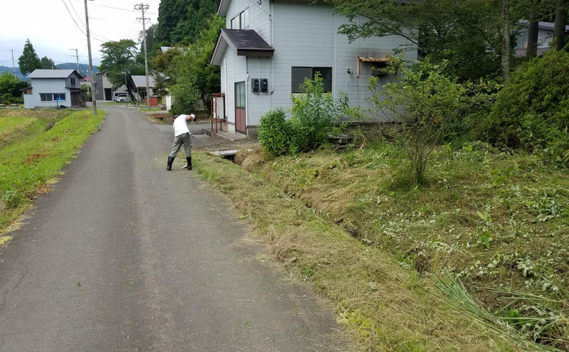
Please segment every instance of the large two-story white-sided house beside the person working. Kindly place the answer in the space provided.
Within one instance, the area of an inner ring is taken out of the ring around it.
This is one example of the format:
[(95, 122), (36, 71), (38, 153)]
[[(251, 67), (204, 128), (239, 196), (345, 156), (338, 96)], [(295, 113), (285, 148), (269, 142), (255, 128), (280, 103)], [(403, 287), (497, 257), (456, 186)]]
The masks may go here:
[[(349, 19), (308, 0), (221, 0), (218, 15), (227, 28), (219, 33), (211, 65), (221, 68), (224, 99), (216, 99), (213, 113), (225, 115), (229, 132), (250, 137), (268, 110), (292, 107), (304, 78), (317, 72), (326, 91), (344, 91), (351, 106), (365, 105), (373, 68), (385, 67), (388, 56), (408, 44), (399, 36), (349, 43), (338, 33)], [(406, 51), (405, 59), (416, 60), (417, 50)]]

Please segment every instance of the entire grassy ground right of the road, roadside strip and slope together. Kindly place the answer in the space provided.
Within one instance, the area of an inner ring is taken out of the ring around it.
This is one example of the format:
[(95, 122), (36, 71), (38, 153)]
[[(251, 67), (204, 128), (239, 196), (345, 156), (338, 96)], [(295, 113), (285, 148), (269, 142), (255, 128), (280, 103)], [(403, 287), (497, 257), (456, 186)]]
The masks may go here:
[(358, 351), (567, 349), (566, 169), (472, 144), (438, 151), (430, 185), (409, 189), (405, 152), (381, 140), (264, 163), (257, 151), (241, 158), (251, 172), (196, 159), (272, 257), (334, 303)]

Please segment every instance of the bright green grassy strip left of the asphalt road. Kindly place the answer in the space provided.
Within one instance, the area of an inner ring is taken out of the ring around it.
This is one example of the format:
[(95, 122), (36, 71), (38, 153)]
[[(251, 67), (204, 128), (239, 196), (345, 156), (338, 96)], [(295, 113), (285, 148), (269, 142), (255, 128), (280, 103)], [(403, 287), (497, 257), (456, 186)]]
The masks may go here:
[[(0, 236), (46, 191), (59, 170), (97, 128), (104, 113), (88, 111), (0, 112)], [(48, 123), (53, 128), (45, 131)], [(9, 236), (0, 237), (0, 245)]]

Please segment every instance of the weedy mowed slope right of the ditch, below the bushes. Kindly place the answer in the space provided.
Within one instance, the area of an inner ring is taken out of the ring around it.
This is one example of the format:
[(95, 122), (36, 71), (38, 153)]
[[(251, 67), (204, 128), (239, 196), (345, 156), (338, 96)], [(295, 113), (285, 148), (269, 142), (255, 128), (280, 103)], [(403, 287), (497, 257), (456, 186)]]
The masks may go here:
[(482, 143), (437, 149), (427, 186), (405, 186), (405, 164), (379, 141), (255, 174), (418, 275), (459, 277), (528, 341), (569, 351), (569, 170)]

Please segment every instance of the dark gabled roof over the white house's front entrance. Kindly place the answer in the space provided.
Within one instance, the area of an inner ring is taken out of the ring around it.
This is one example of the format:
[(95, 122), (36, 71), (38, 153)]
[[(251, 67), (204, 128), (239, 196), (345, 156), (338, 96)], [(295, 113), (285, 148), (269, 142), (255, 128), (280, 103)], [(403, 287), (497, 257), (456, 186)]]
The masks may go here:
[(252, 29), (222, 29), (211, 54), (211, 64), (220, 65), (220, 58), (230, 46), (238, 56), (272, 56), (275, 48)]

